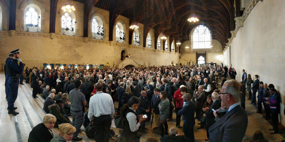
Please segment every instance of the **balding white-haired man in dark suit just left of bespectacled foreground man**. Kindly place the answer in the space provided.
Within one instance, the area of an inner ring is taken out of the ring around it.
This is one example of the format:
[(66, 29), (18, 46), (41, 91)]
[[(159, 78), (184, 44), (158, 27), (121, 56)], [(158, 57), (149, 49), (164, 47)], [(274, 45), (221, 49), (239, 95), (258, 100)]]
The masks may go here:
[(207, 138), (205, 140), (209, 140), (209, 128), (216, 122), (212, 109), (217, 110), (221, 107), (221, 102), (218, 99), (219, 99), (219, 94), (217, 92), (213, 92), (212, 93), (213, 104), (210, 106), (208, 110), (206, 108), (203, 108), (203, 111), (206, 115)]

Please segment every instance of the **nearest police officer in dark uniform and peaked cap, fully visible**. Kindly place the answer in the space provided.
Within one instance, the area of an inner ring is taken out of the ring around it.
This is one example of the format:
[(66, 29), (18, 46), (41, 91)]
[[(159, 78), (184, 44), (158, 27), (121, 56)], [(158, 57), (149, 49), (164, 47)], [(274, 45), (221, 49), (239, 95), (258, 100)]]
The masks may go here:
[[(8, 95), (8, 114), (17, 115), (18, 112), (15, 111), (17, 107), (14, 107), (14, 102), (18, 97), (18, 87), (19, 87), (19, 75), (24, 70), (25, 64), (22, 63), (20, 59), (19, 49), (11, 51), (12, 58), (7, 60), (7, 67), (9, 70), (9, 95)], [(18, 65), (18, 61), (20, 62)]]

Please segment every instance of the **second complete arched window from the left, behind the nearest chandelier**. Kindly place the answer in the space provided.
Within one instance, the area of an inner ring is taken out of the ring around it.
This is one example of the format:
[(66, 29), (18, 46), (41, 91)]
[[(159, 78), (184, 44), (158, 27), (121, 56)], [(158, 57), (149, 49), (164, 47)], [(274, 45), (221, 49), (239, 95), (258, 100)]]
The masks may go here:
[(75, 27), (76, 27), (76, 21), (75, 21), (75, 14), (71, 12), (65, 12), (61, 16), (61, 31), (64, 35), (71, 35), (75, 36)]

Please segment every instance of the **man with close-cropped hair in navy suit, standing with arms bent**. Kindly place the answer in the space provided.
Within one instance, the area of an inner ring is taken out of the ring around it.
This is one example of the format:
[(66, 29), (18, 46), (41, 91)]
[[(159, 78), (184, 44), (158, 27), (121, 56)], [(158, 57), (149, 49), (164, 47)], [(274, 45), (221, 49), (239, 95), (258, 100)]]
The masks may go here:
[(184, 106), (177, 112), (178, 115), (182, 115), (183, 118), (183, 132), (190, 141), (195, 140), (194, 138), (194, 125), (195, 125), (195, 103), (191, 101), (191, 94), (186, 93), (183, 96)]

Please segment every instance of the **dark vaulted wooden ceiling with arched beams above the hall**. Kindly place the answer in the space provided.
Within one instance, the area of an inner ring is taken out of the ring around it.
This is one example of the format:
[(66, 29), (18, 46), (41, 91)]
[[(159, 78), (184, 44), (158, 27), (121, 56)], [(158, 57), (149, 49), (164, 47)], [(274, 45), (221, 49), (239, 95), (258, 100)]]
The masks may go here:
[[(235, 29), (234, 12), (235, 3), (240, 0), (74, 0), (84, 3), (84, 17), (91, 15), (92, 7), (99, 7), (110, 11), (110, 31), (113, 32), (115, 20), (118, 15), (123, 15), (130, 19), (129, 23), (134, 22), (144, 24), (143, 39), (153, 28), (155, 30), (155, 41), (160, 33), (170, 36), (170, 43), (173, 40), (180, 40), (181, 43), (189, 40), (191, 29), (203, 23), (212, 34), (212, 38), (219, 40), (224, 48), (230, 31)], [(194, 6), (195, 13), (199, 22), (189, 23), (187, 19), (191, 14), (191, 5)], [(238, 7), (239, 8), (239, 7)], [(236, 16), (241, 16), (236, 12)], [(87, 18), (88, 17), (88, 18)], [(85, 18), (84, 18), (85, 19)], [(88, 29), (85, 29), (88, 32)], [(86, 33), (85, 32), (85, 33)], [(132, 31), (130, 31), (132, 32)], [(109, 40), (113, 40), (110, 34)]]

